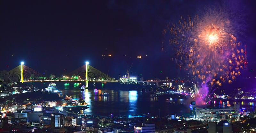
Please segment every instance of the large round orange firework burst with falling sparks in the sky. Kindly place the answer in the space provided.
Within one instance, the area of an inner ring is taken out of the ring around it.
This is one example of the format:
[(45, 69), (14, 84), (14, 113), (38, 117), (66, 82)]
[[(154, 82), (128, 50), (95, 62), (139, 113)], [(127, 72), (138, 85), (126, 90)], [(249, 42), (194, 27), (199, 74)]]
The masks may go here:
[(232, 23), (215, 14), (205, 13), (193, 19), (181, 17), (178, 23), (167, 24), (163, 31), (165, 36), (170, 36), (168, 47), (175, 53), (172, 60), (190, 70), (200, 83), (207, 83), (210, 77), (211, 87), (236, 80), (244, 60), (244, 50), (239, 49), (241, 44), (226, 32), (231, 31)]

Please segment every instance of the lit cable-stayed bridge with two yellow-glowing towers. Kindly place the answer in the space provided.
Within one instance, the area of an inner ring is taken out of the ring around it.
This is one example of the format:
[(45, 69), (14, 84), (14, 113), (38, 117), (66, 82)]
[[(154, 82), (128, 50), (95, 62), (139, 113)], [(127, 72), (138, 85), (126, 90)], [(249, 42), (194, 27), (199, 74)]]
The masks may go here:
[(85, 82), (85, 87), (88, 87), (88, 82), (118, 82), (115, 78), (111, 78), (107, 74), (95, 69), (88, 62), (76, 70), (63, 75), (61, 78), (47, 78), (45, 75), (29, 68), (22, 62), (16, 68), (7, 72), (8, 79), (17, 77), (20, 82), (43, 82), (43, 81), (81, 81)]

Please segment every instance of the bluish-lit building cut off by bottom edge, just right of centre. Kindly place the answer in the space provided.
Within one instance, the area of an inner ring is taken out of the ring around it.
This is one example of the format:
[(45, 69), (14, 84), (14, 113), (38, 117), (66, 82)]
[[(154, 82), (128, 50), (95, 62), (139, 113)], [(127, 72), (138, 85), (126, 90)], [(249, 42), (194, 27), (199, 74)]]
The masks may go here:
[(133, 128), (134, 133), (155, 133), (155, 124), (141, 123), (141, 126)]

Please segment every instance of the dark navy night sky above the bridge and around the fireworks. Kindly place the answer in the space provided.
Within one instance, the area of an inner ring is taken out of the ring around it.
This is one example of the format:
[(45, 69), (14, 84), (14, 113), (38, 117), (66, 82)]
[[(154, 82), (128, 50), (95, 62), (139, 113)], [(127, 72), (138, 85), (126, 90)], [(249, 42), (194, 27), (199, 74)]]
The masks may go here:
[[(161, 51), (165, 24), (221, 2), (2, 0), (0, 70), (12, 70), (23, 61), (40, 73), (47, 70), (47, 75), (59, 76), (88, 61), (114, 78), (125, 75), (131, 65), (131, 76), (175, 78), (177, 69), (170, 61), (171, 54)], [(248, 68), (256, 70), (250, 68), (256, 57), (255, 2), (228, 2), (245, 12), (245, 30), (237, 40), (247, 45)]]

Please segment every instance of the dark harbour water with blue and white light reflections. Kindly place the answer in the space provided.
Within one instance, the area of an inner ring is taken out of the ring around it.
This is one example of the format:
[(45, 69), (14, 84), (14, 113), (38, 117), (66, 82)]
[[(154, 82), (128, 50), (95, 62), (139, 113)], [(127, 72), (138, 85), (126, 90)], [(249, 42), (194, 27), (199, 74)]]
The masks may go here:
[[(41, 87), (39, 89), (44, 89), (49, 85), (49, 83), (31, 83), (36, 87)], [(81, 110), (81, 114), (94, 114), (94, 115), (131, 115), (137, 114), (142, 115), (142, 113), (149, 113), (154, 116), (159, 114), (160, 116), (164, 115), (183, 115), (189, 113), (189, 99), (178, 99), (178, 98), (166, 98), (166, 97), (152, 97), (151, 93), (139, 92), (139, 91), (122, 91), (105, 89), (102, 88), (102, 84), (92, 85), (91, 88), (81, 91), (80, 88), (84, 83), (56, 83), (58, 90), (61, 90), (61, 95), (63, 96), (72, 96), (76, 98), (82, 98), (88, 104), (89, 108)], [(107, 83), (108, 84), (108, 83)], [(106, 84), (106, 85), (107, 85)], [(105, 85), (104, 85), (105, 86)], [(90, 85), (89, 85), (90, 87)], [(98, 92), (94, 92), (94, 89), (97, 88)], [(109, 93), (108, 97), (100, 96), (100, 93), (107, 92)], [(215, 104), (212, 101), (209, 103), (211, 107), (227, 107), (227, 104), (235, 102), (225, 101), (221, 104), (216, 102)], [(250, 107), (254, 109), (253, 102), (240, 102), (240, 108)]]

